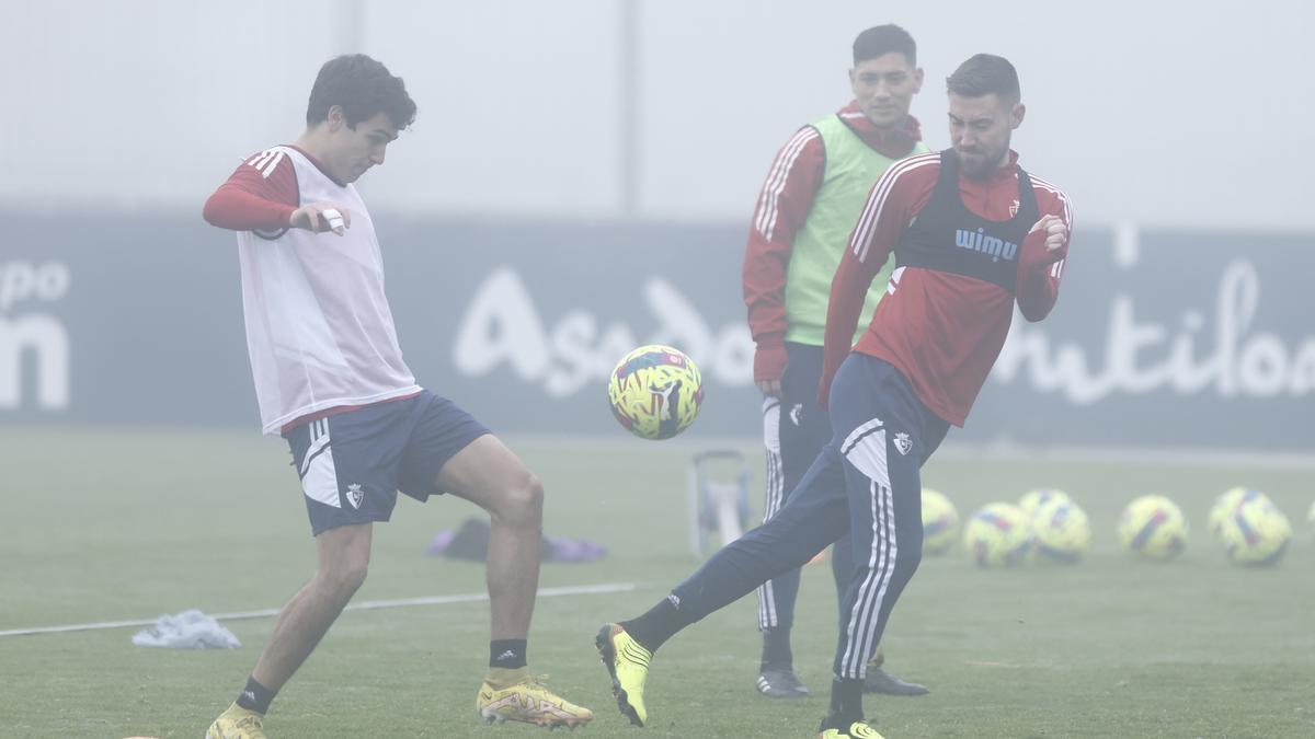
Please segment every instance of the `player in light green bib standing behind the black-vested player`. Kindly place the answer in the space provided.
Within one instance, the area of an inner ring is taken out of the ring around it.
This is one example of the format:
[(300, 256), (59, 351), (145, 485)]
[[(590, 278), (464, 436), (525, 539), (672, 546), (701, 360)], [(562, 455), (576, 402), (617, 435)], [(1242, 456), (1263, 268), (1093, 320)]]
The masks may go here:
[[(764, 522), (785, 505), (830, 441), (831, 425), (817, 402), (817, 391), (831, 277), (872, 185), (896, 160), (928, 151), (918, 121), (909, 114), (922, 78), (917, 45), (905, 29), (881, 25), (860, 33), (849, 70), (855, 99), (801, 128), (786, 142), (772, 162), (753, 210), (743, 281), (750, 330), (757, 345), (753, 380), (763, 391)], [(892, 264), (872, 280), (864, 316), (872, 316), (885, 295)], [(853, 569), (849, 548), (844, 538), (831, 550), (831, 571), (842, 594)], [(757, 589), (763, 631), (757, 690), (764, 696), (809, 694), (794, 673), (790, 651), (798, 590), (798, 569)], [(878, 651), (867, 673), (867, 692), (927, 692), (882, 671), (881, 660)]]

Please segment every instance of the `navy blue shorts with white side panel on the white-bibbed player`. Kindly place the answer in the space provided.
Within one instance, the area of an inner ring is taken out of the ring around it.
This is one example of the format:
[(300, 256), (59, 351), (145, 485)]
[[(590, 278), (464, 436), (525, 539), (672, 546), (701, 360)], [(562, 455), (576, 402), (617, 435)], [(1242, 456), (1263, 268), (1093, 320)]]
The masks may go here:
[(310, 530), (388, 521), (397, 490), (443, 494), (438, 472), (487, 426), (429, 391), (302, 423), (283, 434), (301, 477)]

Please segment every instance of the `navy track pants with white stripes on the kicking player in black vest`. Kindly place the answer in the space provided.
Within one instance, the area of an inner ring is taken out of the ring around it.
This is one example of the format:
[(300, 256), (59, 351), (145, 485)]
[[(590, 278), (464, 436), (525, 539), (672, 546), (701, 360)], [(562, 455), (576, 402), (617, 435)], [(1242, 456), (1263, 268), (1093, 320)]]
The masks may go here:
[(713, 555), (672, 594), (697, 621), (848, 534), (853, 573), (842, 600), (834, 671), (861, 679), (922, 560), (919, 468), (949, 426), (894, 367), (863, 354), (840, 366), (828, 404), (831, 441), (780, 512)]

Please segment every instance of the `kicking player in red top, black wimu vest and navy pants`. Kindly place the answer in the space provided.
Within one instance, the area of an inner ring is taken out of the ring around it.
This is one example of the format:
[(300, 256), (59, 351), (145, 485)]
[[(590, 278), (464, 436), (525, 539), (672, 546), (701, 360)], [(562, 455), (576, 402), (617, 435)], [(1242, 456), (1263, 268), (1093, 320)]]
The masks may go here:
[[(648, 717), (654, 651), (848, 534), (855, 572), (818, 736), (880, 736), (863, 717), (863, 680), (922, 558), (919, 468), (968, 417), (1014, 306), (1040, 321), (1055, 305), (1072, 227), (1068, 197), (1019, 167), (1009, 146), (1026, 113), (1014, 66), (978, 54), (947, 92), (952, 147), (886, 171), (831, 283), (819, 388), (831, 441), (772, 521), (643, 615), (598, 632), (618, 706), (635, 723)], [(851, 351), (868, 285), (890, 254), (886, 296)]]

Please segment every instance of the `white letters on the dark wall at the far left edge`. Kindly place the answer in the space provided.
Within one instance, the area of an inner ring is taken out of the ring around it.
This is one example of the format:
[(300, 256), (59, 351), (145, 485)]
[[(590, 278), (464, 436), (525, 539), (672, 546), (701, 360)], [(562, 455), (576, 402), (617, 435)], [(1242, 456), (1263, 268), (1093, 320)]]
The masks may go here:
[(68, 331), (29, 304), (58, 302), (68, 293), (62, 262), (0, 262), (0, 410), (24, 405), (24, 368), (34, 370), (39, 410), (68, 408)]

